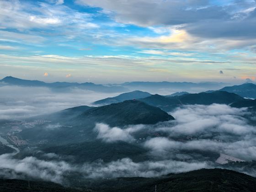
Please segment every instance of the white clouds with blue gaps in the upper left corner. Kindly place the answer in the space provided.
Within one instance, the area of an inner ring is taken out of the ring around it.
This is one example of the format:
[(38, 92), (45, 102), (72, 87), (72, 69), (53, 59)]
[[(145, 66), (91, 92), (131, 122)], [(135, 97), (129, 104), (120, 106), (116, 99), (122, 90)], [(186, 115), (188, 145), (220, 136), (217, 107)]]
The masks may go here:
[[(8, 28), (18, 30), (48, 27), (78, 27), (84, 29), (90, 23), (90, 14), (78, 12), (65, 5), (63, 0), (52, 0), (56, 5), (43, 2), (28, 3), (19, 0), (5, 0), (0, 2), (0, 7), (5, 7), (1, 12), (0, 22)], [(36, 11), (33, 11), (36, 10)], [(87, 26), (86, 26), (87, 25)]]

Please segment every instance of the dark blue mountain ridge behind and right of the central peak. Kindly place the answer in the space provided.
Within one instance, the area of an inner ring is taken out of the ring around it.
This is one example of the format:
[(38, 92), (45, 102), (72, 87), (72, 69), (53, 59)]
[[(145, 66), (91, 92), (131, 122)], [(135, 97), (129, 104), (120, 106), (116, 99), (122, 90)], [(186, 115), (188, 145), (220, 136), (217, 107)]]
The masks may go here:
[(165, 112), (170, 112), (172, 109), (180, 105), (210, 105), (213, 103), (230, 104), (240, 100), (244, 100), (244, 98), (226, 91), (214, 91), (210, 93), (202, 92), (172, 97), (152, 95), (143, 99), (139, 99), (139, 101), (143, 101), (149, 105), (159, 107)]

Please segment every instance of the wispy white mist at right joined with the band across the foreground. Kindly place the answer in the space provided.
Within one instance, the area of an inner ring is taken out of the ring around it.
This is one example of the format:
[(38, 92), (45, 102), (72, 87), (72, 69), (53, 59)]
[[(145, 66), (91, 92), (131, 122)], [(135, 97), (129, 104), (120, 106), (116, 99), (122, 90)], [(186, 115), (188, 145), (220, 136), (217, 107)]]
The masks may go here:
[[(48, 160), (31, 156), (16, 159), (11, 154), (4, 154), (0, 155), (0, 169), (5, 170), (1, 177), (22, 179), (25, 175), (63, 184), (75, 173), (85, 179), (153, 177), (219, 167), (214, 160), (220, 153), (246, 161), (256, 159), (256, 127), (250, 124), (250, 118), (245, 118), (250, 117), (246, 108), (237, 109), (219, 104), (189, 105), (176, 108), (170, 114), (176, 120), (124, 128), (97, 123), (94, 128), (99, 142), (106, 143), (134, 143), (139, 140), (137, 133), (141, 131), (158, 133), (158, 137), (148, 136), (138, 143), (138, 146), (148, 150), (150, 160), (134, 162), (127, 157), (107, 163), (97, 160), (74, 165), (57, 154), (45, 154), (51, 157)], [(234, 169), (256, 176), (254, 170), (246, 172)]]

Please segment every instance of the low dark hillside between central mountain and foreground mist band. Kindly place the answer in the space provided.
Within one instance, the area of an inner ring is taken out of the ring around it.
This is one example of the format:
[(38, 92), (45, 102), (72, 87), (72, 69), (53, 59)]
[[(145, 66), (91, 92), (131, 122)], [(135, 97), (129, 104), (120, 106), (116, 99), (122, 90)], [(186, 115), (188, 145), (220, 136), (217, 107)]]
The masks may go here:
[(58, 155), (72, 155), (77, 163), (103, 160), (104, 162), (115, 161), (122, 158), (130, 158), (134, 162), (149, 160), (147, 150), (139, 144), (118, 141), (106, 143), (101, 140), (52, 146), (42, 149), (45, 153)]

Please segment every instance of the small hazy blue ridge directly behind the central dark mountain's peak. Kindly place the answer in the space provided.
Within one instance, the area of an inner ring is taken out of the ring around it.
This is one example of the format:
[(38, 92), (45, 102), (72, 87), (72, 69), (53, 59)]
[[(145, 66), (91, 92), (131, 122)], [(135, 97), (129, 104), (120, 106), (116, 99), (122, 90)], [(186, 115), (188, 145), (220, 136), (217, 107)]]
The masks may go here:
[(148, 92), (143, 92), (143, 91), (132, 91), (132, 92), (128, 92), (128, 93), (123, 93), (119, 96), (108, 97), (106, 99), (95, 101), (95, 102), (93, 102), (93, 104), (94, 105), (107, 105), (107, 104), (112, 104), (112, 103), (119, 103), (119, 102), (126, 101), (126, 100), (140, 99), (140, 98), (144, 98), (147, 96), (151, 96), (151, 94)]

